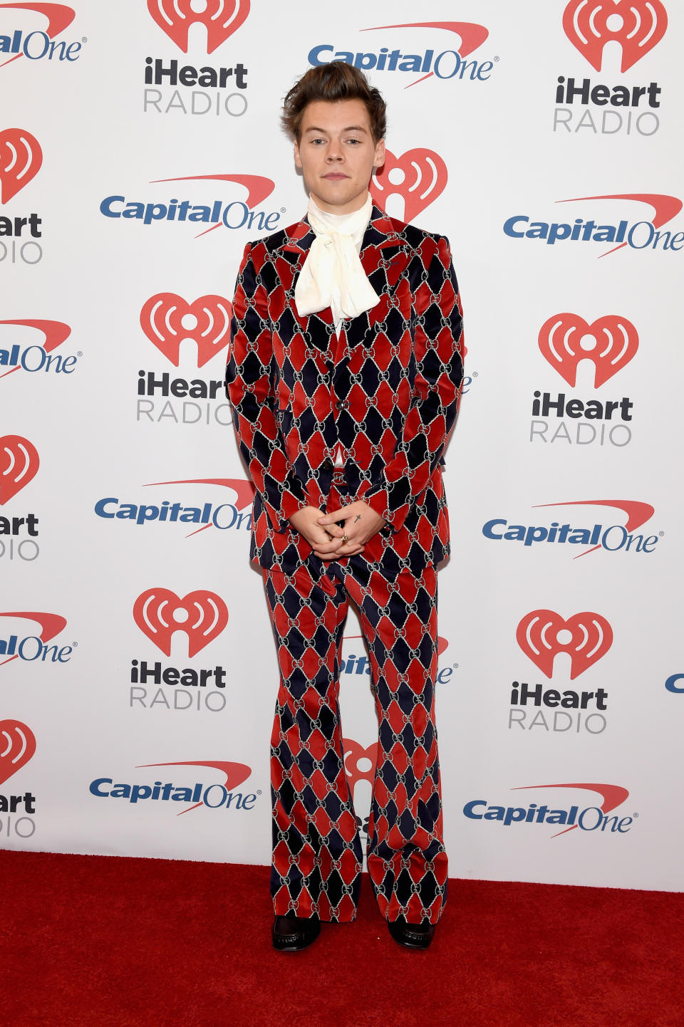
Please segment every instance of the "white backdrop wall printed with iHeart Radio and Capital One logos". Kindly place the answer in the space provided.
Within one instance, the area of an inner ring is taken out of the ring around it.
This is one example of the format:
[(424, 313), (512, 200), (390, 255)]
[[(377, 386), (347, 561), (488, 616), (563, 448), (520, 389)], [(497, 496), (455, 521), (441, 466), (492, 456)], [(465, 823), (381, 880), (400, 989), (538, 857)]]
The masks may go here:
[(305, 210), (281, 98), (337, 59), (388, 102), (376, 198), (450, 237), (465, 309), (451, 873), (681, 888), (683, 32), (673, 0), (0, 2), (0, 845), (269, 861), (222, 379), (243, 246)]

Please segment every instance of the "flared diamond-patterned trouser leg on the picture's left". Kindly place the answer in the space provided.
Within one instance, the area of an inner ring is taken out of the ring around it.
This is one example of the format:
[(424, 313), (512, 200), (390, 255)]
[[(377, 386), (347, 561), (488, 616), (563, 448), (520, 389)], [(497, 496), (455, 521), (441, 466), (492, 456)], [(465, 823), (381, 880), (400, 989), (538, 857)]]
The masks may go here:
[(356, 915), (362, 847), (339, 716), (347, 597), (307, 566), (264, 571), (280, 684), (271, 737), (275, 914), (348, 921)]

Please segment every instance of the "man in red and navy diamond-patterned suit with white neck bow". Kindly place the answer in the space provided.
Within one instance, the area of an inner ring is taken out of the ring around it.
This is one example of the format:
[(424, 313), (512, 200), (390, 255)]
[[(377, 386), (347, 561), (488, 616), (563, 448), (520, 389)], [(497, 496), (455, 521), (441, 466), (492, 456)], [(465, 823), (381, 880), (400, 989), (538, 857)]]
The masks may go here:
[(351, 600), (380, 722), (369, 873), (392, 938), (425, 949), (447, 888), (433, 683), (441, 465), (462, 377), (456, 279), (444, 237), (372, 204), (385, 105), (362, 72), (312, 68), (283, 111), (308, 214), (246, 246), (227, 370), (280, 668), (272, 940), (299, 951), (320, 920), (356, 914), (338, 709)]

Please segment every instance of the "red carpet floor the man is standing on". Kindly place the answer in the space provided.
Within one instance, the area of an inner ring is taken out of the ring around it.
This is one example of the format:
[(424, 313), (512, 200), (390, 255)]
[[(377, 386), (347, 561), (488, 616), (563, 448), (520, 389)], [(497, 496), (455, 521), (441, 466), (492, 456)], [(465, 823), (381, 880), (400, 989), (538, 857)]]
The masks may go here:
[(0, 879), (2, 1027), (684, 1025), (679, 893), (452, 881), (414, 953), (366, 878), (283, 955), (264, 867), (2, 850)]

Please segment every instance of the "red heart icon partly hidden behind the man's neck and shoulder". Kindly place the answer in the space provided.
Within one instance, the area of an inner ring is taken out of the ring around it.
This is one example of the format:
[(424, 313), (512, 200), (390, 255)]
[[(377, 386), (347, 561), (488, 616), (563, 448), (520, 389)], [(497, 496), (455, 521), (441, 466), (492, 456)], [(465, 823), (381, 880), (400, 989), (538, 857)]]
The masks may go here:
[(403, 220), (413, 221), (442, 195), (448, 178), (447, 165), (434, 150), (407, 150), (401, 157), (385, 150), (385, 162), (374, 172), (369, 188), (383, 210), (389, 196), (400, 195), (404, 199)]

